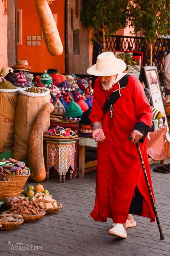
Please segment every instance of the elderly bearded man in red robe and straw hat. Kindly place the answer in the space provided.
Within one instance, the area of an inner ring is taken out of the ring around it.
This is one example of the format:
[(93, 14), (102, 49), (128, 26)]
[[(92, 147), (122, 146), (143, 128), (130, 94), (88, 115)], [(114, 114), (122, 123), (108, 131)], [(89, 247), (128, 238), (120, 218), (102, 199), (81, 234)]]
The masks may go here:
[(136, 226), (131, 214), (155, 221), (135, 145), (139, 140), (152, 189), (146, 152), (152, 110), (140, 81), (123, 73), (125, 69), (125, 62), (113, 52), (103, 52), (87, 70), (88, 74), (99, 76), (90, 115), (93, 138), (98, 142), (96, 200), (91, 217), (95, 221), (112, 218), (109, 234), (121, 238), (127, 237), (126, 228)]

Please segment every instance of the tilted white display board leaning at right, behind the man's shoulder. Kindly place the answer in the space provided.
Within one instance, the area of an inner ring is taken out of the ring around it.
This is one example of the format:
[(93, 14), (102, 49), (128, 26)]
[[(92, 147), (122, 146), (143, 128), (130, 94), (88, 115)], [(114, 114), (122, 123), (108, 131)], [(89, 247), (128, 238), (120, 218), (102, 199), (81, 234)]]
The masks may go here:
[(151, 93), (151, 105), (161, 111), (161, 113), (164, 113), (165, 116), (165, 125), (167, 126), (167, 131), (170, 131), (170, 128), (168, 126), (167, 122), (167, 115), (164, 109), (164, 100), (161, 90), (161, 85), (159, 82), (159, 76), (158, 72), (155, 66), (147, 66), (142, 67), (139, 80), (142, 82), (144, 81), (145, 86), (150, 89)]

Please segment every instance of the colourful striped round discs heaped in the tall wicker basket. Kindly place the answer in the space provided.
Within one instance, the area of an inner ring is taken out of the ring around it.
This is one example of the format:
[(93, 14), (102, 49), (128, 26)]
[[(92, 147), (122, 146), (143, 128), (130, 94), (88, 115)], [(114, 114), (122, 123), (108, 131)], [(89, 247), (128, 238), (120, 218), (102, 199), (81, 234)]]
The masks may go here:
[(13, 158), (0, 160), (0, 173), (26, 176), (30, 174), (30, 169), (26, 167), (24, 162), (17, 161)]

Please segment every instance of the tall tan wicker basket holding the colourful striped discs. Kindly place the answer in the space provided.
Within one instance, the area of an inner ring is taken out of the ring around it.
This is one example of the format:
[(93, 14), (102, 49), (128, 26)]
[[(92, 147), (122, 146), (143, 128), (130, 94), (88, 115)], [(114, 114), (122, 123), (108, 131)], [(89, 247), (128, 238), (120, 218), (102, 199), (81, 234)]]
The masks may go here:
[(21, 190), (23, 189), (23, 186), (30, 175), (20, 176), (6, 173), (4, 173), (4, 175), (9, 179), (9, 182), (5, 191), (0, 194), (0, 200), (5, 200), (5, 198), (8, 196), (20, 196)]

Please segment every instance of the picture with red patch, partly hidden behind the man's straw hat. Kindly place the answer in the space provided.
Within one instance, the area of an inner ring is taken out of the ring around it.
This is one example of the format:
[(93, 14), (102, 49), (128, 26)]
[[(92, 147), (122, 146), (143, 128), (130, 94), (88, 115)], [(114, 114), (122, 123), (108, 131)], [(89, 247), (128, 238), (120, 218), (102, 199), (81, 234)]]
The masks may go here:
[(128, 66), (128, 73), (139, 78), (139, 74), (143, 64), (143, 52), (135, 51), (115, 51), (116, 58), (125, 61)]

